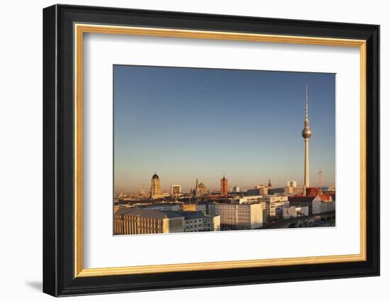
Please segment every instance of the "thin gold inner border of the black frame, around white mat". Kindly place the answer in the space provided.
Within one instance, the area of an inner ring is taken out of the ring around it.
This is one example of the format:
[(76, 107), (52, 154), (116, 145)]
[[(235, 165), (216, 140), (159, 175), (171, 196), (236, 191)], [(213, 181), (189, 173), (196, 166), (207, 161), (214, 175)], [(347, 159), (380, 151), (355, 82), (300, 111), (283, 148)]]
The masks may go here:
[[(198, 38), (214, 40), (242, 40), (252, 42), (282, 42), (287, 44), (332, 45), (360, 48), (360, 254), (309, 256), (282, 259), (257, 259), (243, 261), (216, 261), (206, 263), (176, 263), (152, 266), (123, 266), (107, 268), (83, 268), (82, 229), (82, 87), (83, 87), (83, 36), (84, 33), (120, 35), (147, 35), (170, 38)], [(339, 38), (317, 38), (292, 35), (263, 35), (204, 30), (144, 28), (114, 25), (74, 24), (74, 277), (120, 276), (145, 273), (169, 273), (182, 271), (221, 270), (228, 268), (258, 268), (292, 266), (298, 264), (342, 263), (365, 261), (366, 245), (366, 41)]]

